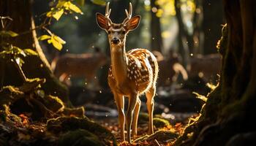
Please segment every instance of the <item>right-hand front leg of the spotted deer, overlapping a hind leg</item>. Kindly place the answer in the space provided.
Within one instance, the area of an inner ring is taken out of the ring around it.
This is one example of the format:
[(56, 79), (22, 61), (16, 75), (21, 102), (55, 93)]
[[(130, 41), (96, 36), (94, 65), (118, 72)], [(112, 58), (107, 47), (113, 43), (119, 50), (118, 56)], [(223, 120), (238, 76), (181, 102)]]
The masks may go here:
[(138, 95), (137, 94), (132, 94), (129, 96), (129, 104), (128, 104), (128, 109), (127, 109), (127, 115), (126, 115), (126, 120), (127, 120), (127, 141), (131, 143), (131, 128), (132, 128), (132, 114), (135, 109), (135, 104), (137, 102)]

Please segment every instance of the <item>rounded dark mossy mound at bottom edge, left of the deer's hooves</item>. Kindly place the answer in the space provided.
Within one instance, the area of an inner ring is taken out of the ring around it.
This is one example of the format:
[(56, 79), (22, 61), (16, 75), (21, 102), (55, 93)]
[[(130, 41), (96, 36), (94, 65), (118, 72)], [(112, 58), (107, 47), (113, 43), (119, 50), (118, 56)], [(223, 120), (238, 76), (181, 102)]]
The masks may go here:
[(59, 146), (69, 145), (86, 145), (86, 146), (100, 146), (103, 145), (99, 138), (91, 134), (91, 132), (84, 129), (78, 129), (75, 131), (68, 131), (61, 135), (58, 140)]

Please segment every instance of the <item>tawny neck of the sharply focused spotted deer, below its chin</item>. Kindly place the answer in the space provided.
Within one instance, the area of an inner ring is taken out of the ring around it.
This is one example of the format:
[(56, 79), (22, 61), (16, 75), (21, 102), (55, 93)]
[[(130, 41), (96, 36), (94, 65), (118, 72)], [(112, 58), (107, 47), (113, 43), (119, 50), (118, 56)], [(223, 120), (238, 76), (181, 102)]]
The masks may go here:
[(113, 77), (118, 85), (124, 83), (127, 78), (127, 55), (124, 45), (110, 45), (111, 47), (111, 65)]

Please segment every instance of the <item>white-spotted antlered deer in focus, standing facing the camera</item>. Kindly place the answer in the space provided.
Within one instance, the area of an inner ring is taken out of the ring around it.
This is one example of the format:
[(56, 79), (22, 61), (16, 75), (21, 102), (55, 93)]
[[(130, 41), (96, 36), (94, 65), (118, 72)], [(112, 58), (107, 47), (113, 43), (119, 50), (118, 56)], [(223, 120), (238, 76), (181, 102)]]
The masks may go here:
[[(132, 4), (129, 12), (125, 9), (127, 18), (122, 23), (110, 20), (109, 2), (105, 15), (96, 13), (99, 28), (108, 34), (110, 44), (110, 68), (108, 71), (108, 85), (113, 93), (118, 110), (118, 123), (121, 128), (121, 140), (125, 142), (124, 126), (127, 126), (127, 141), (137, 135), (138, 114), (140, 111), (140, 96), (146, 93), (148, 109), (148, 134), (154, 133), (153, 111), (156, 82), (158, 76), (157, 58), (146, 49), (136, 48), (126, 52), (125, 42), (129, 31), (135, 30), (140, 23), (140, 15), (132, 17)], [(124, 115), (124, 97), (128, 97), (128, 107)]]

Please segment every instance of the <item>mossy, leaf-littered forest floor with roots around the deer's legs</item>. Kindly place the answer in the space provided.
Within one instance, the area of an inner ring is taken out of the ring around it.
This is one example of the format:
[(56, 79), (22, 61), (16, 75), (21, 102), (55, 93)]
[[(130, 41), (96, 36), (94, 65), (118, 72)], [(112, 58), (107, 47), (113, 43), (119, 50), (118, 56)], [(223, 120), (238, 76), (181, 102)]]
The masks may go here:
[(24, 90), (27, 85), (7, 86), (0, 92), (0, 145), (172, 145), (202, 105), (192, 94), (195, 88), (160, 88), (154, 102), (154, 134), (148, 135), (146, 98), (141, 97), (138, 135), (128, 144), (121, 142), (109, 90), (71, 88), (69, 96), (76, 108), (70, 109), (58, 97), (45, 95), (37, 84), (30, 83), (29, 90)]

